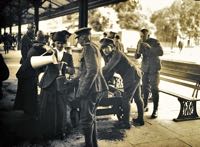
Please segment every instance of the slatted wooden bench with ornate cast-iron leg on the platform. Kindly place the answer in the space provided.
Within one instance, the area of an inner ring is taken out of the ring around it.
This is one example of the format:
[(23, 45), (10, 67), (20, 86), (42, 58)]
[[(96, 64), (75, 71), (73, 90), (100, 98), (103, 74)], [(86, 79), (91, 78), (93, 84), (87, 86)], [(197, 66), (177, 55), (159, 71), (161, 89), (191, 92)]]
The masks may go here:
[(160, 88), (159, 91), (176, 97), (180, 103), (180, 111), (174, 121), (200, 119), (197, 114), (198, 91), (200, 89), (200, 65), (195, 63), (162, 60), (161, 80), (186, 86), (193, 89), (191, 96)]

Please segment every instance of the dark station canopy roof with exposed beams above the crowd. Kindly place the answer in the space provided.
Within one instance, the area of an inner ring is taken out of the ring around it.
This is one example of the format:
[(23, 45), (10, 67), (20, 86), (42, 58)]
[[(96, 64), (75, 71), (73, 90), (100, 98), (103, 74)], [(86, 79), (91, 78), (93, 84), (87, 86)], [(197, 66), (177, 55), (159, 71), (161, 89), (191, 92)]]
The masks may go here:
[[(83, 0), (85, 1), (85, 0)], [(87, 0), (93, 9), (126, 0)], [(86, 1), (86, 2), (87, 2)], [(80, 0), (0, 0), (0, 28), (33, 22), (38, 9), (39, 20), (46, 20), (79, 11)]]

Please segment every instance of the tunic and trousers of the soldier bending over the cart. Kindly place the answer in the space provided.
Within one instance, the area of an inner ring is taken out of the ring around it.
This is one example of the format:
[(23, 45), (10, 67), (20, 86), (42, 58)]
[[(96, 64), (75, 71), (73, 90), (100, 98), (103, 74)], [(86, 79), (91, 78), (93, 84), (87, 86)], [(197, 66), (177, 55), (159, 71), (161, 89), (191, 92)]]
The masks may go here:
[(140, 70), (129, 61), (126, 55), (120, 51), (112, 51), (111, 58), (103, 68), (107, 80), (114, 73), (118, 73), (123, 79), (124, 95), (122, 99), (124, 121), (129, 122), (130, 102), (134, 98), (138, 108), (138, 118), (143, 120), (143, 102), (140, 95)]

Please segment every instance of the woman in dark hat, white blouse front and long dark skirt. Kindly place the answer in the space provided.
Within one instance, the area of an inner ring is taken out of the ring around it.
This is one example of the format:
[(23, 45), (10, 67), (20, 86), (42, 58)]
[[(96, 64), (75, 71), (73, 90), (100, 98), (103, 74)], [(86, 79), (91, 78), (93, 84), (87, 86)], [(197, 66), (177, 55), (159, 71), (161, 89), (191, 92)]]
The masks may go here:
[(64, 51), (65, 35), (57, 32), (54, 35), (58, 64), (49, 64), (40, 81), (41, 107), (40, 123), (43, 137), (53, 139), (63, 137), (66, 125), (65, 93), (57, 90), (56, 79), (66, 73), (74, 74), (72, 55)]

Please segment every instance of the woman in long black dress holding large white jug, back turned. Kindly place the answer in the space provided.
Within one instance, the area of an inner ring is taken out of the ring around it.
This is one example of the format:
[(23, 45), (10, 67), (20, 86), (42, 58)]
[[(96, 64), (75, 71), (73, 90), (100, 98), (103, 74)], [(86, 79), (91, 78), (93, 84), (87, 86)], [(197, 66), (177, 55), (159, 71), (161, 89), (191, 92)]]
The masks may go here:
[(16, 73), (18, 79), (17, 94), (14, 103), (14, 110), (22, 110), (30, 117), (37, 118), (39, 112), (38, 104), (38, 74), (40, 69), (33, 69), (30, 63), (32, 56), (43, 54), (45, 38), (43, 33), (37, 33), (33, 47), (28, 51), (27, 58)]

